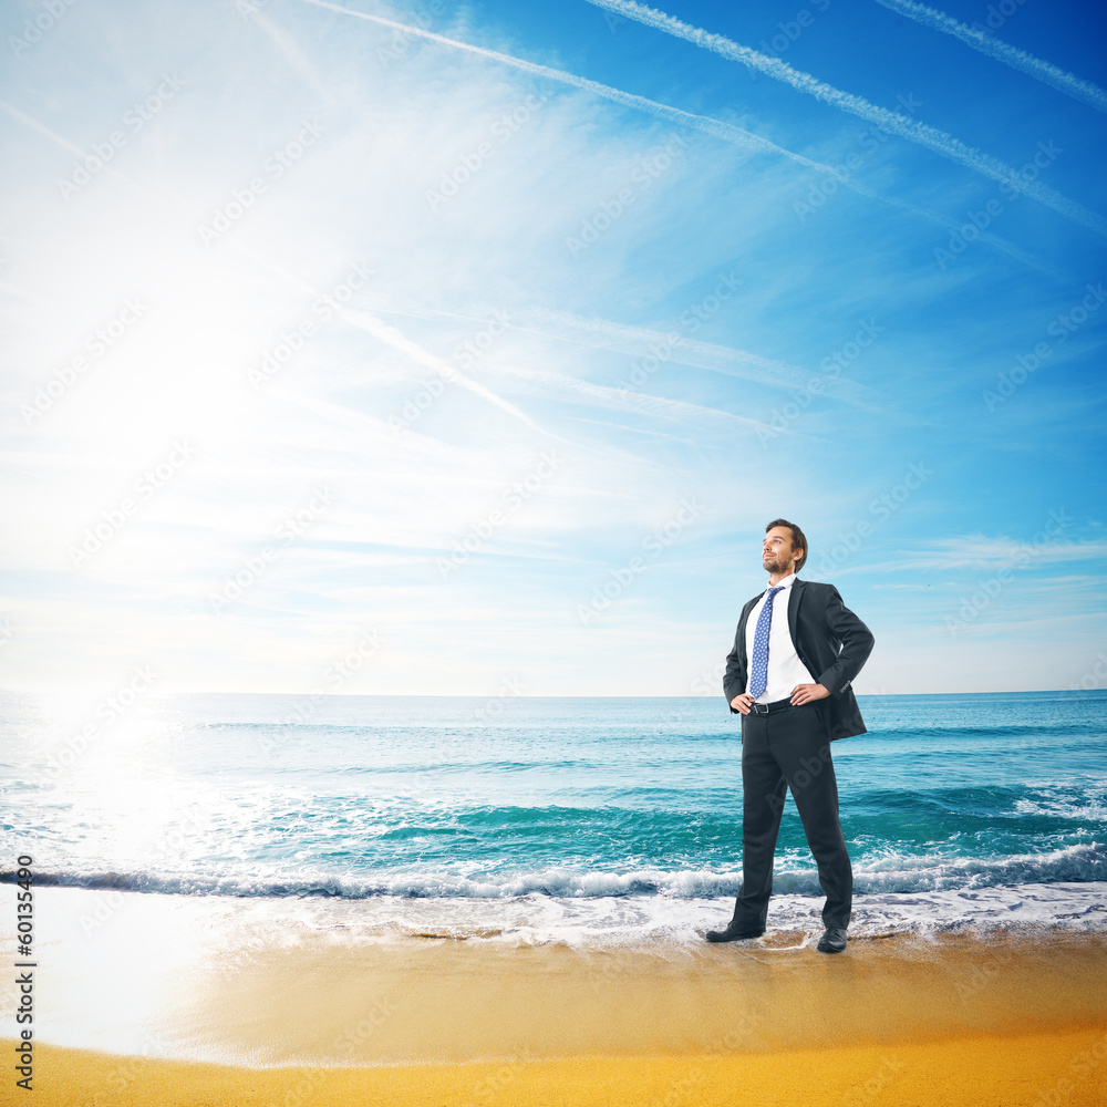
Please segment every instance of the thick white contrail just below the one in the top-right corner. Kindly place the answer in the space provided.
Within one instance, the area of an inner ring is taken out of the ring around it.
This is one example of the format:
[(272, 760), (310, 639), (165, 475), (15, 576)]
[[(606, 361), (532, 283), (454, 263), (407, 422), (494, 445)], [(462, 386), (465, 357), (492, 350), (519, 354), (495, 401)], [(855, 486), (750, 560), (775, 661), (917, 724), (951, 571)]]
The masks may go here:
[[(321, 2), (321, 0), (308, 0), (308, 2), (315, 3)], [(825, 104), (829, 104), (831, 107), (837, 107), (840, 111), (860, 116), (862, 120), (868, 120), (870, 123), (876, 123), (882, 131), (887, 131), (889, 134), (899, 135), (901, 138), (907, 138), (909, 142), (932, 149), (935, 154), (941, 154), (951, 162), (956, 162), (959, 165), (963, 165), (982, 176), (1010, 184), (1021, 193), (1033, 196), (1039, 204), (1053, 208), (1054, 211), (1063, 215), (1066, 219), (1072, 219), (1074, 223), (1078, 223), (1107, 238), (1107, 219), (1104, 219), (1103, 216), (1090, 208), (1086, 208), (1083, 204), (1063, 196), (1056, 189), (1043, 185), (1039, 180), (1025, 180), (1017, 169), (1013, 169), (999, 158), (993, 157), (991, 154), (985, 154), (975, 146), (970, 146), (960, 138), (954, 138), (953, 135), (946, 134), (944, 131), (939, 131), (938, 127), (932, 127), (925, 123), (918, 123), (906, 115), (901, 115), (899, 112), (889, 111), (887, 107), (878, 107), (876, 104), (870, 104), (862, 96), (855, 96), (852, 93), (842, 92), (840, 89), (836, 89), (825, 81), (819, 81), (809, 73), (795, 70), (778, 58), (769, 58), (767, 54), (752, 50), (749, 46), (743, 46), (731, 39), (724, 38), (722, 34), (713, 34), (702, 28), (692, 27), (691, 23), (685, 23), (672, 15), (666, 15), (655, 8), (648, 8), (644, 4), (635, 3), (634, 0), (587, 0), (587, 2), (597, 8), (615, 12), (627, 19), (644, 23), (646, 27), (652, 27), (655, 30), (664, 31), (674, 38), (685, 39), (704, 50), (710, 50), (718, 54), (721, 58), (739, 62), (748, 69), (756, 70), (777, 81), (782, 81), (798, 92), (806, 92), (808, 95), (823, 101)]]

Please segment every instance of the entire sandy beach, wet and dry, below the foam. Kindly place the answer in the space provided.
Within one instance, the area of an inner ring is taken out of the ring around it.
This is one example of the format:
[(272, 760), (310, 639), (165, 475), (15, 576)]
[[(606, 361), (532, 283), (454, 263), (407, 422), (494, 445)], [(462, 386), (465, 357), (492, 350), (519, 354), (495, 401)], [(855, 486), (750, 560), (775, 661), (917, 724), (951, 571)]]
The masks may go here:
[[(93, 894), (49, 891), (59, 913)], [(10, 1076), (3, 1101), (1107, 1103), (1099, 935), (869, 938), (837, 956), (801, 934), (368, 940), (343, 925), (231, 925), (234, 904), (216, 917), (211, 902), (172, 899), (128, 894), (104, 927), (43, 945), (34, 1098)], [(89, 1041), (100, 1047), (73, 1047)]]

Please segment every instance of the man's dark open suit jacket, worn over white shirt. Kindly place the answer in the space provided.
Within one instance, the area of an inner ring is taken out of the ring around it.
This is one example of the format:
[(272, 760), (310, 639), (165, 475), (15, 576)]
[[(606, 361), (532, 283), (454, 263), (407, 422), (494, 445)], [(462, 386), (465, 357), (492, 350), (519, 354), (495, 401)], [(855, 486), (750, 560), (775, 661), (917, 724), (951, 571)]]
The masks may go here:
[[(746, 690), (746, 620), (764, 594), (763, 590), (749, 600), (738, 618), (734, 649), (726, 655), (723, 677), (727, 704)], [(815, 683), (830, 692), (815, 701), (830, 741), (865, 734), (865, 722), (850, 683), (872, 652), (869, 628), (841, 602), (834, 584), (797, 579), (788, 597), (788, 630), (799, 660), (809, 673), (818, 674)], [(731, 712), (738, 714), (735, 707)]]

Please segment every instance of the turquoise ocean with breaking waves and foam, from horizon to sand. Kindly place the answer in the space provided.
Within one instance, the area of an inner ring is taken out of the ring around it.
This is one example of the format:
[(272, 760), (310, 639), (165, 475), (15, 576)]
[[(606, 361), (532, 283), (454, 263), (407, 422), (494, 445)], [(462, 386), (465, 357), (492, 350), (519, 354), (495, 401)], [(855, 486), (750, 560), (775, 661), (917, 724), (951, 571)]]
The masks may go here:
[[(860, 696), (851, 933), (1107, 930), (1107, 691)], [(2, 879), (228, 897), (387, 940), (700, 941), (742, 878), (717, 697), (0, 694)], [(820, 930), (789, 797), (770, 929)], [(333, 914), (333, 912), (332, 912)], [(307, 917), (307, 914), (304, 914)], [(337, 915), (333, 915), (337, 918)]]

